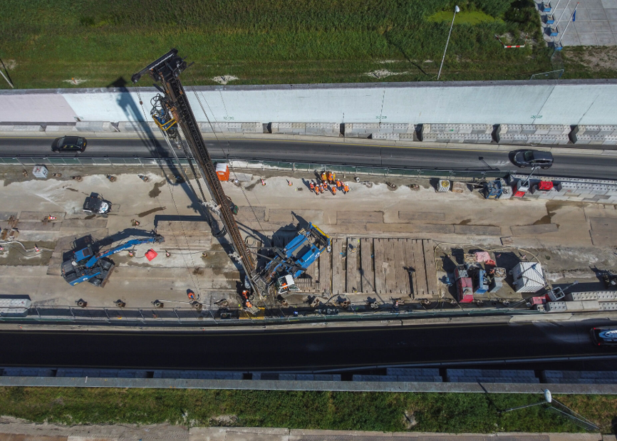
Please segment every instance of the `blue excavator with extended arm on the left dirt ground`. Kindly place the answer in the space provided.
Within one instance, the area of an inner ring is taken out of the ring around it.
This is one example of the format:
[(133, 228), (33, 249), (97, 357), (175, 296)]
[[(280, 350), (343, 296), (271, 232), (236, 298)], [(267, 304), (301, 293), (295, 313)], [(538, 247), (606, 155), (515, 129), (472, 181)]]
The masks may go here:
[(119, 253), (125, 249), (135, 247), (140, 244), (160, 244), (165, 242), (165, 239), (160, 234), (153, 234), (151, 237), (142, 239), (131, 239), (118, 247), (95, 253), (92, 244), (78, 251), (73, 251), (68, 259), (62, 262), (62, 276), (70, 285), (81, 284), (83, 281), (88, 281), (94, 286), (101, 288), (107, 283), (109, 276), (115, 264), (108, 259), (112, 254)]

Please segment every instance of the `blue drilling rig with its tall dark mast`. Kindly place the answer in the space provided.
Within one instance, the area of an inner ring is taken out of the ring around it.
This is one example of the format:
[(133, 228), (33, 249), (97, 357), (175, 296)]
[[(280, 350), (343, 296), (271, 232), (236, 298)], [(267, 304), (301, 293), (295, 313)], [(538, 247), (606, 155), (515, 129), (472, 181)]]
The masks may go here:
[[(133, 83), (137, 83), (145, 73), (148, 73), (155, 81), (155, 88), (162, 93), (162, 95), (159, 94), (152, 98), (150, 102), (152, 105), (150, 115), (160, 128), (176, 160), (178, 160), (178, 157), (175, 150), (179, 148), (184, 150), (193, 175), (196, 178), (197, 172), (192, 164), (192, 160), (195, 160), (197, 163), (212, 201), (207, 202), (199, 180), (196, 179), (202, 196), (200, 200), (204, 216), (209, 219), (209, 210), (212, 210), (220, 217), (223, 228), (220, 232), (213, 232), (213, 235), (214, 237), (222, 237), (224, 234), (229, 234), (234, 249), (231, 256), (244, 269), (245, 286), (247, 281), (250, 285), (247, 286), (247, 289), (252, 289), (253, 293), (259, 296), (259, 298), (269, 294), (274, 296), (292, 294), (296, 291), (294, 289), (296, 288), (294, 278), (306, 271), (308, 266), (316, 261), (324, 251), (331, 251), (330, 237), (323, 233), (321, 229), (310, 224), (309, 228), (302, 229), (298, 237), (290, 242), (287, 247), (275, 249), (274, 259), (267, 258), (270, 261), (269, 264), (265, 266), (263, 271), (257, 271), (251, 251), (244, 243), (234, 219), (232, 212), (234, 204), (230, 203), (231, 199), (223, 191), (214, 163), (190, 107), (187, 94), (182, 87), (180, 78), (178, 78), (180, 73), (188, 67), (190, 65), (187, 64), (185, 59), (178, 56), (177, 49), (172, 49), (138, 73), (135, 73), (131, 80)], [(182, 142), (182, 136), (186, 139), (186, 145)], [(183, 170), (181, 172), (185, 182), (187, 182), (192, 192), (199, 199), (199, 195), (195, 192), (190, 180)]]

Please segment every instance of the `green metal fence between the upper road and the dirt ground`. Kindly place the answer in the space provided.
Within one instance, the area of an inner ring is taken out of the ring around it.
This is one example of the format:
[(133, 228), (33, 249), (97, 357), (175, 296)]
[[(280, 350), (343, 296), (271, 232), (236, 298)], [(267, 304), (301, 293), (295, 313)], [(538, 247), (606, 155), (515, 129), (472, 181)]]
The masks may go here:
[[(213, 159), (231, 161), (234, 169), (247, 170), (281, 170), (289, 172), (312, 172), (313, 170), (331, 170), (339, 174), (369, 175), (382, 177), (461, 177), (484, 179), (506, 177), (508, 172), (501, 170), (424, 170), (416, 168), (370, 167), (356, 165), (318, 164), (312, 162), (283, 161), (249, 161), (233, 158)], [(48, 167), (188, 167), (189, 160), (180, 159), (178, 163), (173, 158), (155, 157), (0, 157), (0, 165), (16, 165), (33, 167), (46, 165)]]

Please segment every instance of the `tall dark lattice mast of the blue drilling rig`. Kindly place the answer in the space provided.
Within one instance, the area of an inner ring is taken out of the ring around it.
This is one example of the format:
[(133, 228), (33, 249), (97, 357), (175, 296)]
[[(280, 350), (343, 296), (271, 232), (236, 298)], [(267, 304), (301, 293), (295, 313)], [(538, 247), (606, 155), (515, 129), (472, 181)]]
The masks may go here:
[(195, 120), (195, 115), (193, 115), (185, 89), (178, 78), (180, 73), (185, 71), (188, 66), (186, 61), (178, 56), (177, 53), (177, 49), (172, 49), (164, 56), (158, 58), (157, 61), (150, 63), (150, 65), (135, 73), (131, 80), (133, 83), (137, 83), (144, 73), (150, 73), (152, 79), (162, 85), (172, 118), (182, 128), (182, 133), (184, 133), (192, 155), (199, 164), (200, 170), (202, 170), (208, 190), (216, 204), (214, 209), (219, 212), (224, 229), (227, 230), (229, 237), (232, 239), (234, 251), (237, 254), (236, 258), (242, 264), (242, 268), (245, 274), (247, 274), (254, 292), (261, 295), (261, 289), (256, 285), (253, 256), (244, 244), (244, 240), (242, 240), (238, 225), (229, 207), (229, 199), (227, 199), (223, 191), (204, 138), (202, 138), (202, 133), (199, 131), (199, 125), (197, 120)]

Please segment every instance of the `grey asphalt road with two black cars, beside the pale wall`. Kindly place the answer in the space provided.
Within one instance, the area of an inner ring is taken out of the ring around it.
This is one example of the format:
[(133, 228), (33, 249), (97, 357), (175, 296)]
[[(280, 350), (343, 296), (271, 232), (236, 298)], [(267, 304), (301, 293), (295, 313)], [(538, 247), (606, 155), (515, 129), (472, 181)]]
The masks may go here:
[[(73, 157), (74, 153), (52, 153), (53, 138), (0, 138), (0, 156)], [(425, 170), (503, 170), (518, 169), (509, 160), (509, 152), (463, 150), (440, 147), (391, 147), (372, 142), (365, 145), (332, 144), (292, 140), (232, 139), (207, 140), (210, 155), (221, 158), (314, 162), (317, 164), (366, 165), (376, 167), (408, 167)], [(516, 150), (516, 147), (513, 146)], [(593, 177), (617, 179), (617, 155), (554, 155), (554, 166), (538, 170), (535, 175), (560, 177)], [(89, 138), (83, 157), (170, 157), (162, 140), (136, 138)], [(482, 159), (480, 159), (482, 158)]]

